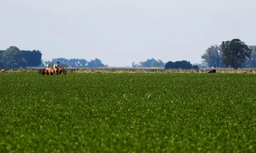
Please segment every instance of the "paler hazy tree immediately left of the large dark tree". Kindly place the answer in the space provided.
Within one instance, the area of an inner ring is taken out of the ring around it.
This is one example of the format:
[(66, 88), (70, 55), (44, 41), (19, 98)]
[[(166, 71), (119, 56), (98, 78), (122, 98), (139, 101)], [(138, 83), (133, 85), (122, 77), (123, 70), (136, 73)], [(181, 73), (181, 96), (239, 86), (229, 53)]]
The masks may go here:
[(219, 68), (221, 65), (219, 46), (216, 44), (215, 46), (209, 47), (206, 49), (201, 58), (204, 60), (203, 62), (206, 63), (209, 67)]

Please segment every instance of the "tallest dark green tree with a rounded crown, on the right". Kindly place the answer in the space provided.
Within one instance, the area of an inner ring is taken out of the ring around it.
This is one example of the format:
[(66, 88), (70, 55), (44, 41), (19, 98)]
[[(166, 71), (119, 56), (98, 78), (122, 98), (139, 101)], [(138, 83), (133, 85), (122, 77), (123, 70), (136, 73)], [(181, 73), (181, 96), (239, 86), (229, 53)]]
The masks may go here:
[(242, 67), (247, 57), (250, 57), (251, 49), (241, 40), (233, 39), (231, 41), (222, 42), (222, 62), (233, 69)]

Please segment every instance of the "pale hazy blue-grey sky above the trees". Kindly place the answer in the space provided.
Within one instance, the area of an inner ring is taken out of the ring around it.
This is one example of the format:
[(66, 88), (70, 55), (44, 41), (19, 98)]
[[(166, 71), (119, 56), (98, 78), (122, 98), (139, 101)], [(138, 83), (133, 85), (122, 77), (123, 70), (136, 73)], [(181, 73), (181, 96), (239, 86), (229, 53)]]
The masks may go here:
[(200, 63), (234, 38), (256, 45), (256, 0), (0, 0), (0, 49), (40, 50), (43, 60)]

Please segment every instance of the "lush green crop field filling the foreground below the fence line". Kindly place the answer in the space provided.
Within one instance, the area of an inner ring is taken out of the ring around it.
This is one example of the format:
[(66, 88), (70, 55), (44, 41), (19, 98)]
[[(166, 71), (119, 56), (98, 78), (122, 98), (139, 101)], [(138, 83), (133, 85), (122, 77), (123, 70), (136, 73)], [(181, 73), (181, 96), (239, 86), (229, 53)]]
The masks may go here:
[(255, 74), (0, 74), (0, 152), (254, 152)]

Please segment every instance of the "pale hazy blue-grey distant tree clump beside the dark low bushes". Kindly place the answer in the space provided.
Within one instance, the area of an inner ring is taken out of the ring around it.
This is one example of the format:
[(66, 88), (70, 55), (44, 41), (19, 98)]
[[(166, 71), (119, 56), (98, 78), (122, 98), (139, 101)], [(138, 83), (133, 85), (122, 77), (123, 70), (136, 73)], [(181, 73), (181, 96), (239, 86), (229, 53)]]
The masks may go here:
[(145, 62), (140, 62), (139, 64), (132, 63), (132, 67), (165, 67), (165, 63), (161, 60), (156, 61), (154, 58), (147, 59)]

